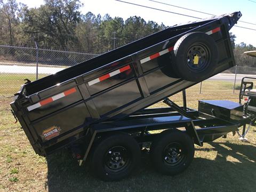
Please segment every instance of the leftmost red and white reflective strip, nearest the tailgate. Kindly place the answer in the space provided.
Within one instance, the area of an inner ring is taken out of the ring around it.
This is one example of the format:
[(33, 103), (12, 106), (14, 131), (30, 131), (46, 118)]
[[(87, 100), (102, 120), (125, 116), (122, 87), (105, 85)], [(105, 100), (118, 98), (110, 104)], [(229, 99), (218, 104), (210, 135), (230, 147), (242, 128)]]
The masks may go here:
[(76, 89), (75, 89), (75, 87), (73, 87), (73, 88), (71, 88), (69, 90), (66, 90), (66, 91), (62, 92), (62, 93), (54, 95), (53, 97), (50, 97), (50, 98), (44, 99), (42, 101), (39, 101), (38, 103), (27, 107), (27, 109), (28, 109), (28, 111), (34, 110), (34, 109), (36, 109), (38, 107), (44, 106), (44, 105), (46, 105), (46, 104), (48, 104), (50, 102), (56, 101), (56, 100), (58, 100), (58, 99), (60, 99), (62, 97), (65, 97), (65, 96), (67, 96), (69, 94), (72, 94), (72, 93), (75, 93), (75, 92), (76, 92)]

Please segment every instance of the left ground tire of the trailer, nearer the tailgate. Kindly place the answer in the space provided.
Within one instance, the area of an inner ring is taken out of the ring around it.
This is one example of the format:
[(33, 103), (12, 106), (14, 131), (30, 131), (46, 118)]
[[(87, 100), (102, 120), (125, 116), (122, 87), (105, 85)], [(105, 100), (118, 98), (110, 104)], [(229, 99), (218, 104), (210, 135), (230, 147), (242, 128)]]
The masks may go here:
[(126, 133), (116, 133), (94, 147), (90, 169), (104, 181), (121, 180), (139, 166), (141, 151), (138, 142)]

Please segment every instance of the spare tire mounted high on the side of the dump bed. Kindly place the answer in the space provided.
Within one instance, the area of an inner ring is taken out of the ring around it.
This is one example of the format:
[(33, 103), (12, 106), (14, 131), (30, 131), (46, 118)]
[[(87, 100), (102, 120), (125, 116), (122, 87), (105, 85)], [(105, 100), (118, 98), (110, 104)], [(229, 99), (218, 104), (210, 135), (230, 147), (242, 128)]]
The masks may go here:
[(173, 50), (172, 66), (175, 74), (191, 82), (209, 78), (219, 60), (217, 43), (202, 32), (183, 35)]

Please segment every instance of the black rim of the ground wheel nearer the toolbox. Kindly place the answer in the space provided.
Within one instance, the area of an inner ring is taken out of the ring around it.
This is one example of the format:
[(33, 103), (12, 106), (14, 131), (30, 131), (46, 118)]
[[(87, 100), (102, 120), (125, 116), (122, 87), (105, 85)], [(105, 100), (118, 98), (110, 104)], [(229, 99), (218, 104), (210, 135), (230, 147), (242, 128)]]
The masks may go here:
[(163, 161), (167, 165), (175, 166), (180, 164), (186, 157), (186, 151), (178, 142), (167, 145), (163, 151)]

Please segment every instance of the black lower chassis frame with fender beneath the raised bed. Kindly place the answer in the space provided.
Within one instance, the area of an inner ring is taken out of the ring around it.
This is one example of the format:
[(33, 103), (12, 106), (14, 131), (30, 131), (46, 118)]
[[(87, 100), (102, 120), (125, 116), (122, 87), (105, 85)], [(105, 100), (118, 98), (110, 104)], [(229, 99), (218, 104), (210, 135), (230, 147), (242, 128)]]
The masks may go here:
[[(205, 114), (195, 109), (187, 108), (186, 90), (182, 91), (183, 106), (180, 107), (168, 98), (163, 100), (166, 108), (147, 108), (122, 119), (121, 121), (105, 121), (93, 124), (85, 135), (85, 153), (78, 159), (81, 166), (90, 154), (95, 138), (102, 137), (113, 131), (122, 131), (128, 134), (139, 132), (135, 139), (139, 142), (152, 142), (154, 137), (159, 134), (150, 134), (148, 131), (177, 129), (185, 127), (186, 132), (198, 146), (203, 146), (204, 142), (213, 141), (220, 137), (226, 137), (227, 133), (233, 132), (235, 135), (238, 128), (250, 124), (252, 115), (247, 114), (241, 121), (231, 123), (225, 119), (217, 118), (213, 115)], [(245, 110), (245, 109), (244, 109)], [(155, 121), (152, 121), (155, 118)], [(146, 120), (145, 120), (146, 119)], [(161, 121), (159, 119), (162, 119)], [(144, 120), (144, 121), (143, 121)], [(130, 124), (130, 125), (127, 125)], [(200, 128), (196, 128), (200, 127)]]

